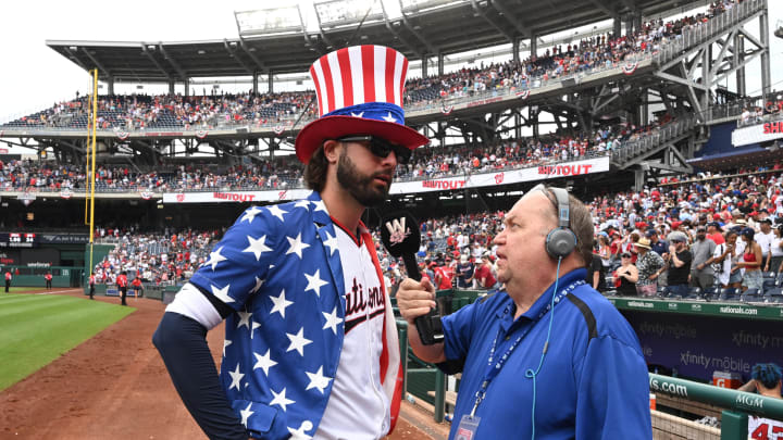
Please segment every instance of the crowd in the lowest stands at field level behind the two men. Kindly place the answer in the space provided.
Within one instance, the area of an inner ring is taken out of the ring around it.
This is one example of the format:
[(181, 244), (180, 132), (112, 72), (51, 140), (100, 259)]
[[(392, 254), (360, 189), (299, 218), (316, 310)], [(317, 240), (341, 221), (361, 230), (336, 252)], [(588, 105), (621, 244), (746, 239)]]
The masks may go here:
[[(781, 163), (735, 174), (664, 178), (642, 191), (597, 196), (589, 209), (596, 234), (591, 269), (599, 273), (595, 281), (600, 291), (686, 296), (698, 287), (703, 291), (735, 288), (737, 294), (755, 289), (761, 294), (773, 286), (767, 284), (770, 274), (780, 291)], [(493, 239), (501, 230), (502, 212), (428, 218), (420, 227), (419, 263), (439, 288), (497, 287)], [(116, 242), (116, 249), (96, 266), (99, 282), (111, 282), (122, 269), (140, 271), (145, 281), (183, 281), (209, 261), (210, 247), (221, 235), (220, 230), (150, 235), (99, 229), (98, 237)], [(373, 235), (381, 243), (380, 231)], [(377, 247), (394, 291), (406, 275), (405, 264)], [(678, 290), (682, 285), (685, 290)]]

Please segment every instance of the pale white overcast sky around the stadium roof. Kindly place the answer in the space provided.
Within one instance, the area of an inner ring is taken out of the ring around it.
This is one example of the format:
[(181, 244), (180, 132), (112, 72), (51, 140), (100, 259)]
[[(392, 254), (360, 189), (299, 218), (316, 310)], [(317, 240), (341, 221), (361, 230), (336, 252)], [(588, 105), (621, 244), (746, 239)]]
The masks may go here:
[[(295, 0), (276, 0), (274, 4)], [(396, 1), (395, 1), (396, 2)], [(188, 2), (133, 0), (107, 2), (0, 2), (0, 122), (70, 100), (84, 93), (89, 75), (49, 49), (46, 40), (177, 41), (236, 38), (234, 11), (269, 7), (269, 2), (224, 0)], [(769, 0), (770, 30), (783, 20), (783, 0)], [(751, 27), (754, 33), (758, 33)], [(773, 88), (783, 89), (783, 40), (772, 39)], [(757, 63), (755, 63), (757, 64)], [(758, 67), (748, 70), (748, 93), (760, 89)], [(105, 88), (101, 93), (105, 93)]]

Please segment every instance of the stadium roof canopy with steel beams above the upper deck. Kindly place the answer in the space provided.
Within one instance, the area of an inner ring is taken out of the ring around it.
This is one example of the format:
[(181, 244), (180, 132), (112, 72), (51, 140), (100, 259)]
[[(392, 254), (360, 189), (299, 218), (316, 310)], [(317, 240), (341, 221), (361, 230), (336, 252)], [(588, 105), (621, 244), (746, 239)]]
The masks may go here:
[[(315, 3), (319, 30), (281, 25), (277, 33), (243, 32), (238, 38), (202, 41), (48, 40), (47, 46), (102, 80), (172, 83), (186, 78), (303, 73), (319, 56), (348, 45), (395, 48), (409, 59), (449, 55), (530, 39), (629, 16), (656, 17), (705, 0), (400, 0), (401, 16), (359, 14), (335, 20)], [(328, 4), (327, 4), (328, 3)], [(363, 15), (363, 16), (360, 16)], [(301, 13), (300, 13), (301, 17)], [(339, 15), (337, 15), (340, 18)], [(300, 18), (301, 20), (301, 18)], [(361, 26), (360, 26), (361, 24)], [(358, 30), (357, 30), (358, 29)], [(347, 45), (348, 43), (348, 45)]]

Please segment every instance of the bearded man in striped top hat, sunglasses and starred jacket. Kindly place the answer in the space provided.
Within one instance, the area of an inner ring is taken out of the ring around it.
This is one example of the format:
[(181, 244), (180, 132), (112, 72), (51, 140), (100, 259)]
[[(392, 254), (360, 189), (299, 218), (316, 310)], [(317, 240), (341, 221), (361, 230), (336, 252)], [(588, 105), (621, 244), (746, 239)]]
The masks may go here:
[[(407, 70), (378, 46), (319, 59), (320, 117), (296, 139), (313, 192), (245, 211), (166, 309), (152, 340), (210, 438), (377, 439), (394, 428), (397, 331), (360, 218), (428, 142), (405, 126)], [(206, 334), (223, 319), (217, 374)]]

